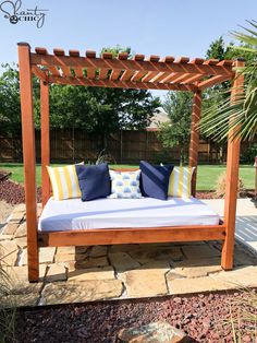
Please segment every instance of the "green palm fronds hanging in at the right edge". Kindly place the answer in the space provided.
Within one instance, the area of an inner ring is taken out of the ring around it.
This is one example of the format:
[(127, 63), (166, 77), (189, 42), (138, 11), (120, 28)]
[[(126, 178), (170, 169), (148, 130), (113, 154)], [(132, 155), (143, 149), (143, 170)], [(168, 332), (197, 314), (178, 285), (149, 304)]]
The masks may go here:
[[(200, 122), (203, 133), (215, 140), (224, 140), (229, 132), (234, 130), (234, 137), (242, 140), (253, 140), (257, 133), (257, 22), (248, 21), (249, 28), (243, 27), (244, 32), (233, 32), (232, 36), (240, 40), (240, 47), (231, 46), (232, 49), (247, 54), (252, 52), (256, 58), (245, 67), (236, 68), (237, 75), (243, 75), (245, 84), (238, 90), (240, 96), (235, 102), (230, 99), (230, 91), (224, 90), (222, 94), (211, 99), (211, 105), (204, 111)], [(215, 96), (215, 95), (212, 95)], [(233, 116), (233, 120), (229, 118)]]

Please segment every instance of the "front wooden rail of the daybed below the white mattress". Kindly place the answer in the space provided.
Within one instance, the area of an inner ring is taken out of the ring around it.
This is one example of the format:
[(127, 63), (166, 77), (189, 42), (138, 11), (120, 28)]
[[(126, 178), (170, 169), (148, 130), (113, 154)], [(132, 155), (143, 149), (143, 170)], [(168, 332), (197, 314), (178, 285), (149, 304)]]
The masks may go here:
[(40, 246), (94, 246), (188, 240), (223, 240), (224, 225), (138, 227), (51, 232), (40, 234)]

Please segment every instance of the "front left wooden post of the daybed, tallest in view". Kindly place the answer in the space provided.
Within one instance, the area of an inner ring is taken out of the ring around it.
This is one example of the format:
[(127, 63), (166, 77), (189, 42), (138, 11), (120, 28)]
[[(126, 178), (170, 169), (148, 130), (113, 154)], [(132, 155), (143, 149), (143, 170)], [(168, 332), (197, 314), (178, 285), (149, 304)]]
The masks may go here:
[(38, 281), (39, 264), (37, 241), (36, 150), (33, 116), (30, 47), (27, 43), (19, 43), (17, 49), (20, 66), (23, 163), (27, 225), (27, 265), (28, 280), (32, 282)]

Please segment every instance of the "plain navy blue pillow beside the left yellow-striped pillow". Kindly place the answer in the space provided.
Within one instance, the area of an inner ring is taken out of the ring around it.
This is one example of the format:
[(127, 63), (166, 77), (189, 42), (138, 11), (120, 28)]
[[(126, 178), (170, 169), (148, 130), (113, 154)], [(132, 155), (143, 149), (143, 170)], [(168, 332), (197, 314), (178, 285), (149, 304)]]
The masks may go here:
[(106, 198), (111, 193), (111, 180), (107, 163), (86, 166), (76, 165), (82, 201)]

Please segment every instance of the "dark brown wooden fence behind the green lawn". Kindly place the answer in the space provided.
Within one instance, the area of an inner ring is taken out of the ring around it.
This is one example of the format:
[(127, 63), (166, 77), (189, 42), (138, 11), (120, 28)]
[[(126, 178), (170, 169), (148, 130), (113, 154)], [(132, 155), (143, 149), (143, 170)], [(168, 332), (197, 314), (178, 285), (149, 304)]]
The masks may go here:
[[(99, 155), (109, 154), (110, 162), (137, 164), (140, 159), (151, 163), (179, 163), (180, 146), (163, 150), (157, 131), (119, 131), (109, 137), (90, 134), (84, 130), (52, 129), (51, 162), (95, 163)], [(36, 131), (36, 154), (40, 162), (40, 132)], [(187, 150), (187, 147), (186, 147)], [(257, 141), (242, 143), (242, 162), (253, 163)], [(227, 146), (211, 141), (200, 141), (199, 163), (217, 164), (227, 158)], [(0, 135), (0, 162), (22, 162), (22, 137)]]

